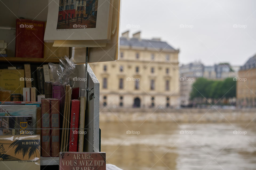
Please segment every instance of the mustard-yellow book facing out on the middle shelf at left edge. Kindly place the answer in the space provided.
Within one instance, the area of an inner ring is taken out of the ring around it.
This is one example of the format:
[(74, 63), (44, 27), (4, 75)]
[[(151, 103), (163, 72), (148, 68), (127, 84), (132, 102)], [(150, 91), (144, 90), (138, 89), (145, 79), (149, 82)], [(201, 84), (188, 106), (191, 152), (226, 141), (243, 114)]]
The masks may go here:
[(0, 70), (0, 87), (22, 94), (25, 87), (24, 70)]

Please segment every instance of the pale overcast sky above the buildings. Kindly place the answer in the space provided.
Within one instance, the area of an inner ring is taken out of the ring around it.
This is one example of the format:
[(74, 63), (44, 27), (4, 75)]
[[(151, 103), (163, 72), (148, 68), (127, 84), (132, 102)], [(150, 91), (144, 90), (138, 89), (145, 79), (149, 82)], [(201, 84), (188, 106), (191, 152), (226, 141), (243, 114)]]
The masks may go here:
[(121, 32), (127, 30), (161, 37), (180, 49), (182, 64), (243, 65), (256, 54), (256, 1), (123, 0)]

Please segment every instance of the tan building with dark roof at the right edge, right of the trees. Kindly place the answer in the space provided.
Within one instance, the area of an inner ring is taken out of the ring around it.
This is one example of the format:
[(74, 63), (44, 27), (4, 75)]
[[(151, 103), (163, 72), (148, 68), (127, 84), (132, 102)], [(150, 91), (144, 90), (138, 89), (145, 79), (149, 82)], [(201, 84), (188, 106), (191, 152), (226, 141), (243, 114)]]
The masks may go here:
[(237, 106), (256, 107), (256, 54), (241, 66), (237, 81)]

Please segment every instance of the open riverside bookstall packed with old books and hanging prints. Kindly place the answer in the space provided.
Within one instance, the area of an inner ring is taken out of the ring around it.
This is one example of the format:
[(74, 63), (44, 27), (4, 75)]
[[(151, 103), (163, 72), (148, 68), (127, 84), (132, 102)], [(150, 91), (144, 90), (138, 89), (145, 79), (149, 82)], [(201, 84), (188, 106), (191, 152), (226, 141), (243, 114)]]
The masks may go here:
[(67, 164), (72, 154), (88, 161), (79, 169), (106, 169), (99, 81), (88, 63), (118, 60), (120, 6), (120, 0), (2, 1), (3, 169), (66, 169), (74, 166)]

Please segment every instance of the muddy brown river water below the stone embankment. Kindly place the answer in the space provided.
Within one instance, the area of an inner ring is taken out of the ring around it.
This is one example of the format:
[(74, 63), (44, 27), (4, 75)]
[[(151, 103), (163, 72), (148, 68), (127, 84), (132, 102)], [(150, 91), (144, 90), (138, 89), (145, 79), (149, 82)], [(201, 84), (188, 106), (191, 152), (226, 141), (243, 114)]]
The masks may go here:
[(101, 151), (123, 170), (255, 170), (256, 123), (248, 123), (101, 122)]

